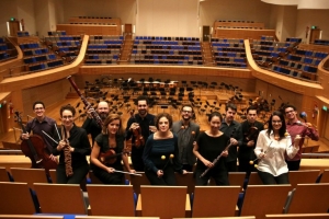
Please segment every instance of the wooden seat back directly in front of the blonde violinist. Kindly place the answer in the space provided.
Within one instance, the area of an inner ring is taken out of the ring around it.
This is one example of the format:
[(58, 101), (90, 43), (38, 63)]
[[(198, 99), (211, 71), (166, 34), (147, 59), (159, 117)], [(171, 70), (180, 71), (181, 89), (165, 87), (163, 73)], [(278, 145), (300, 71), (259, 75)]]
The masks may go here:
[(135, 216), (132, 185), (87, 185), (92, 216)]

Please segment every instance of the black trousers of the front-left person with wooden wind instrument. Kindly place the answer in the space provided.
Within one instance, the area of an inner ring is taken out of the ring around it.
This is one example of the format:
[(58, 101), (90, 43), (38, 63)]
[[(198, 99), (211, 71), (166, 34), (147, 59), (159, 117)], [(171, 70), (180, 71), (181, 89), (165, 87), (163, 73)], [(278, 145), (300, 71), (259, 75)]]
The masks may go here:
[(77, 168), (73, 168), (73, 175), (67, 176), (65, 172), (65, 165), (58, 165), (56, 170), (58, 184), (80, 184), (89, 172), (89, 164), (83, 163)]

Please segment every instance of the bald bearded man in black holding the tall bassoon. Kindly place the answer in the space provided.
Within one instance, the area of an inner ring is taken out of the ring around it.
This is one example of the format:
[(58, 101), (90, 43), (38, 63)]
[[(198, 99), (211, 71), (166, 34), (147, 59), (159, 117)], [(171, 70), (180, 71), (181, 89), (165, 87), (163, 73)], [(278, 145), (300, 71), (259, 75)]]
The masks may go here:
[[(87, 135), (91, 135), (93, 146), (95, 137), (102, 132), (102, 127), (100, 127), (97, 120), (91, 116), (92, 111), (94, 111), (93, 107), (90, 107), (87, 111), (88, 117), (84, 120), (82, 128), (87, 131)], [(97, 113), (99, 114), (102, 120), (105, 120), (110, 113), (109, 103), (105, 101), (101, 101), (98, 104)]]

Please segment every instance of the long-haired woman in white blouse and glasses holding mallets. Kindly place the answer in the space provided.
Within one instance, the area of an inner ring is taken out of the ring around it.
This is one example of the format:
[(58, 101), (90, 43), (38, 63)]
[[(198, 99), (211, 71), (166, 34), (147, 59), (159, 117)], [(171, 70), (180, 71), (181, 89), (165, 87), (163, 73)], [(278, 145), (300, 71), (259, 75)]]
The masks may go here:
[(288, 168), (285, 153), (293, 158), (299, 150), (300, 137), (294, 141), (286, 135), (284, 116), (274, 111), (269, 120), (269, 128), (260, 131), (254, 154), (258, 158), (258, 174), (263, 184), (288, 184)]

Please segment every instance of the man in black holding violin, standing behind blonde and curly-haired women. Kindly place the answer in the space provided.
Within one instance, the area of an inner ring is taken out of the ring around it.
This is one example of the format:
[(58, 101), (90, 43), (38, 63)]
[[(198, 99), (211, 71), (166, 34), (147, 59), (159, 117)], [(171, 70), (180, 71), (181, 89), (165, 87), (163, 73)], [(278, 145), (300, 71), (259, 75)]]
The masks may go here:
[(148, 136), (155, 132), (157, 128), (155, 126), (155, 116), (148, 114), (148, 99), (138, 96), (136, 102), (138, 114), (132, 115), (127, 122), (126, 140), (132, 138), (132, 163), (134, 170), (145, 171), (143, 161), (144, 146)]

